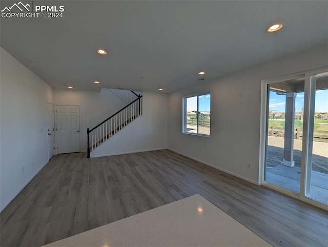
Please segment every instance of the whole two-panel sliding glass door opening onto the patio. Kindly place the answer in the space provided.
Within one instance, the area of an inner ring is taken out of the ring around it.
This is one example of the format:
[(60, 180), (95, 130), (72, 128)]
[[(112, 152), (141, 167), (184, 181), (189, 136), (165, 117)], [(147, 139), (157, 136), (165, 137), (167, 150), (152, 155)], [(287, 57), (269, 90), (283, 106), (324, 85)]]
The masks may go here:
[(264, 81), (264, 183), (328, 204), (328, 72)]

